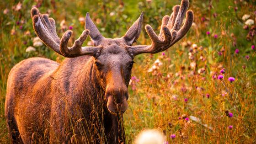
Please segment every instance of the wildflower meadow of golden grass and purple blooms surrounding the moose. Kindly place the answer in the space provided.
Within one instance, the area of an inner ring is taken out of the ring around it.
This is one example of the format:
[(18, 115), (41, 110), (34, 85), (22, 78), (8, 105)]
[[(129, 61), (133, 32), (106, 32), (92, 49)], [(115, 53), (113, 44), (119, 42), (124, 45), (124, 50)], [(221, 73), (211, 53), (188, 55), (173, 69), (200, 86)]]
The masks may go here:
[[(30, 10), (56, 21), (59, 36), (75, 40), (86, 12), (104, 37), (122, 37), (144, 11), (143, 24), (160, 31), (161, 19), (180, 0), (0, 0), (0, 143), (9, 143), (6, 82), (23, 59), (64, 57), (36, 37)], [(156, 128), (166, 144), (256, 143), (256, 0), (190, 0), (194, 23), (163, 53), (135, 57), (124, 125), (128, 144)], [(143, 29), (138, 43), (150, 44)], [(84, 45), (90, 45), (87, 38)]]

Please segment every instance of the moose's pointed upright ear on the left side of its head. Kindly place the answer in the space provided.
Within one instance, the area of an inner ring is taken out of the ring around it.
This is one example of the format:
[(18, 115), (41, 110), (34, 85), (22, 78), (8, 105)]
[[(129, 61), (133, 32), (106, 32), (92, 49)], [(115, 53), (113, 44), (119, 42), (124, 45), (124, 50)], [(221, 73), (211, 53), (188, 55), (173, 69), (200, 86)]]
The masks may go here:
[(86, 13), (85, 17), (85, 29), (90, 30), (89, 36), (91, 37), (91, 41), (93, 42), (94, 46), (98, 46), (104, 37), (101, 35), (100, 31), (91, 20), (89, 12)]

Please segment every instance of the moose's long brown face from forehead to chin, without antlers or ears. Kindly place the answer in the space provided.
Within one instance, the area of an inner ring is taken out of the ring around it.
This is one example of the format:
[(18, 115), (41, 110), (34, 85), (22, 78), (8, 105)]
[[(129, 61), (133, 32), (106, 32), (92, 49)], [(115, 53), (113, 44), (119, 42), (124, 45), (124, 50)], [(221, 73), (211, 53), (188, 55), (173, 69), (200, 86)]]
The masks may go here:
[(133, 68), (133, 58), (125, 49), (122, 39), (106, 39), (101, 42), (101, 54), (94, 66), (101, 86), (105, 89), (107, 108), (111, 113), (125, 112), (128, 108), (128, 84)]

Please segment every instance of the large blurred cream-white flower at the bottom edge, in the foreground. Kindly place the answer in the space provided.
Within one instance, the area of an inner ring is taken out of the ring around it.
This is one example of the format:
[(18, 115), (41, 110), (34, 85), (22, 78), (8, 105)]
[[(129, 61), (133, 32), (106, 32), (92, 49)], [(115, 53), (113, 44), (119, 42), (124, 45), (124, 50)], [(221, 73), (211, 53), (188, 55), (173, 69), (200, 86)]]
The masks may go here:
[(139, 133), (134, 144), (164, 144), (164, 135), (156, 129), (147, 129)]

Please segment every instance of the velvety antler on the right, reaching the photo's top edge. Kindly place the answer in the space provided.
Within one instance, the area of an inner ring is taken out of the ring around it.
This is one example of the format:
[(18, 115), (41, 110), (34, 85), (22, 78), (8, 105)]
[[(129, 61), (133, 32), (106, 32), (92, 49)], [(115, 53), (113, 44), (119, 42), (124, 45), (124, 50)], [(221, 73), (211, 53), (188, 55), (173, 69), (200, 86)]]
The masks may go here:
[[(158, 36), (150, 25), (146, 25), (145, 29), (152, 41), (151, 45), (131, 46), (128, 47), (128, 51), (135, 56), (140, 53), (159, 53), (170, 48), (173, 44), (184, 37), (192, 26), (194, 16), (191, 10), (187, 11), (188, 6), (188, 0), (182, 0), (181, 6), (175, 5), (171, 16), (166, 15), (163, 17), (160, 34)], [(186, 21), (181, 27), (186, 11)]]

